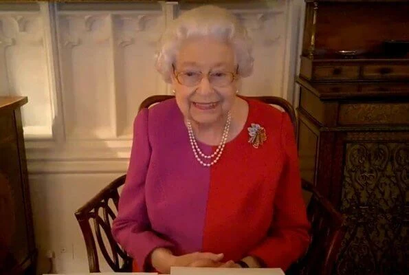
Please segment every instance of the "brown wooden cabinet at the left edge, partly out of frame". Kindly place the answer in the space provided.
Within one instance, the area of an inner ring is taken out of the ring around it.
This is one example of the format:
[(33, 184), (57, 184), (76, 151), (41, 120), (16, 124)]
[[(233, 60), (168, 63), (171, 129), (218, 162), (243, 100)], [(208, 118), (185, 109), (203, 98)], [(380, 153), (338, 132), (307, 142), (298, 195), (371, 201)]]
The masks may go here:
[(35, 273), (36, 247), (20, 107), (24, 97), (0, 97), (0, 274)]

